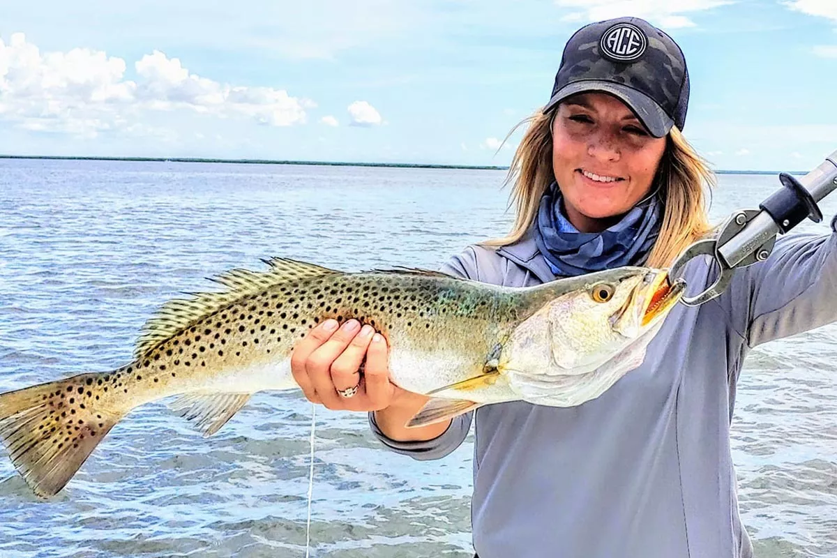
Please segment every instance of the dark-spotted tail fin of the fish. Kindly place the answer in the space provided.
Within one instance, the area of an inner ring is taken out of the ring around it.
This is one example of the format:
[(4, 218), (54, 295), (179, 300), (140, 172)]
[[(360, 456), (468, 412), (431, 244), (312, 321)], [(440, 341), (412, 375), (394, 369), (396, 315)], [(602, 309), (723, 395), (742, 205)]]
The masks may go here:
[(63, 489), (126, 414), (102, 408), (86, 395), (100, 376), (80, 374), (0, 394), (0, 440), (14, 467), (42, 498)]

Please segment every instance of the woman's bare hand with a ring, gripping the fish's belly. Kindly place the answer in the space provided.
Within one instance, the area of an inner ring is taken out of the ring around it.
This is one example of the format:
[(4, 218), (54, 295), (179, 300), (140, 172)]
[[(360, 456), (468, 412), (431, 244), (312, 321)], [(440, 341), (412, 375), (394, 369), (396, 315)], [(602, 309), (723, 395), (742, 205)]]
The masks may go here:
[[(366, 357), (361, 377), (358, 370)], [(294, 347), (290, 371), (309, 401), (341, 411), (380, 411), (404, 390), (389, 381), (388, 347), (371, 325), (336, 320), (317, 325)], [(352, 397), (339, 392), (357, 387)]]

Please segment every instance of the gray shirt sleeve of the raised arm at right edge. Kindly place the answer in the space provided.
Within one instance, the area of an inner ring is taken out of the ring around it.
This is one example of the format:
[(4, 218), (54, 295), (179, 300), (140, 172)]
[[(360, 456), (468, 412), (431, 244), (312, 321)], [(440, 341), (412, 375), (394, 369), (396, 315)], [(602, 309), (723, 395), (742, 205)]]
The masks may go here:
[(813, 330), (837, 321), (837, 217), (830, 234), (794, 233), (777, 238), (762, 263), (733, 279), (732, 315), (747, 345)]

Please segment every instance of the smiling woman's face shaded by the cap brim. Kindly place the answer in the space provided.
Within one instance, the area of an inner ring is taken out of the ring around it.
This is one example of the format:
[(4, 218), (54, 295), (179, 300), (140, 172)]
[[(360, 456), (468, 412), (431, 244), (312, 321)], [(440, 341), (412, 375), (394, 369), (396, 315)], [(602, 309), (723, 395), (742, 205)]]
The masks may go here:
[(651, 136), (621, 100), (573, 95), (552, 122), (552, 168), (570, 223), (598, 233), (617, 223), (651, 189), (665, 137)]

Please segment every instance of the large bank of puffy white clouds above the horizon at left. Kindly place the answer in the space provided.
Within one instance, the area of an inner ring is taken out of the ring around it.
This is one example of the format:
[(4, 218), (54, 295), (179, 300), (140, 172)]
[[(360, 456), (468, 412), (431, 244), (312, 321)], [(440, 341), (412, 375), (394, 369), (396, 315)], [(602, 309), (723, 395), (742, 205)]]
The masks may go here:
[[(24, 130), (95, 137), (102, 131), (136, 135), (144, 111), (187, 111), (218, 118), (245, 118), (264, 125), (306, 121), (311, 100), (285, 90), (221, 84), (190, 74), (177, 58), (155, 50), (134, 64), (136, 81), (126, 79), (125, 60), (102, 51), (72, 49), (41, 53), (14, 33), (0, 38), (0, 120)], [(168, 136), (164, 134), (163, 136)]]

